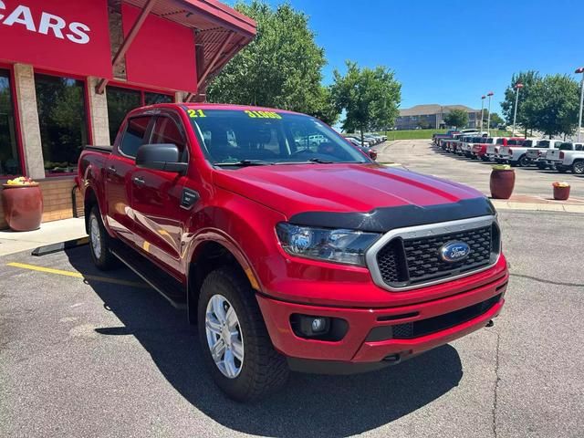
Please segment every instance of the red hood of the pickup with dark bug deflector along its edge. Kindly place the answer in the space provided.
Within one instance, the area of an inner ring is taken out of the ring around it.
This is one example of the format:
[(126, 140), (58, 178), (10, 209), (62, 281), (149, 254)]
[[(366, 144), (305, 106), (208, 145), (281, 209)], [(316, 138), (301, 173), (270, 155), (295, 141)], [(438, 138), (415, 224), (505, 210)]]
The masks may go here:
[(379, 164), (289, 164), (214, 172), (214, 183), (296, 224), (387, 231), (494, 214), (459, 183)]

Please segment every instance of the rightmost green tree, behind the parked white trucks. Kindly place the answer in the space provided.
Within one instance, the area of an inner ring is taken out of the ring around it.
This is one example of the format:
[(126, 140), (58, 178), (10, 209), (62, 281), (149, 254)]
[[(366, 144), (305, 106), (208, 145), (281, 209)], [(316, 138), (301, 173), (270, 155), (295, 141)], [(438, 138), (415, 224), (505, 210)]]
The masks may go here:
[(572, 133), (578, 124), (578, 82), (568, 75), (550, 75), (537, 80), (526, 99), (525, 111), (533, 128), (550, 138)]

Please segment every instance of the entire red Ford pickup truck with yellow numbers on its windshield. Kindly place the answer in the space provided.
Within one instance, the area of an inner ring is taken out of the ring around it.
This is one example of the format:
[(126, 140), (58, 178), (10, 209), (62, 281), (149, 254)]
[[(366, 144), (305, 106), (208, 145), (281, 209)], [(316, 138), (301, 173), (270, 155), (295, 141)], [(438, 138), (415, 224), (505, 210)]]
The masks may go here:
[(498, 315), (508, 272), (493, 205), (387, 168), (312, 117), (161, 104), (78, 164), (89, 248), (198, 324), (239, 401), (288, 370), (375, 370)]

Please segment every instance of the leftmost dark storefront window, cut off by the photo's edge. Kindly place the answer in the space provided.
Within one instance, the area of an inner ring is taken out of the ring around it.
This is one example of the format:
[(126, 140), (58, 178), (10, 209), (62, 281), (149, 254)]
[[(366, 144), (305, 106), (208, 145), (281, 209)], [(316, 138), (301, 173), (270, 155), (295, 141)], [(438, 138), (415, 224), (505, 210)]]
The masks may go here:
[(16, 139), (10, 72), (0, 69), (0, 177), (22, 172)]

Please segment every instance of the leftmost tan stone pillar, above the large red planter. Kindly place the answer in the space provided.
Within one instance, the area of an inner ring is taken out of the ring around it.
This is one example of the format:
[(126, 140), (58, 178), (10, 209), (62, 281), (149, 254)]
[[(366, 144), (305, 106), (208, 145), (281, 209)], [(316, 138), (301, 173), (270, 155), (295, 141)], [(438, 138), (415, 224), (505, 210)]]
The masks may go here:
[(26, 174), (33, 179), (45, 178), (43, 147), (40, 141), (40, 126), (36, 107), (35, 74), (32, 66), (15, 64), (15, 88), (22, 133), (23, 157)]

